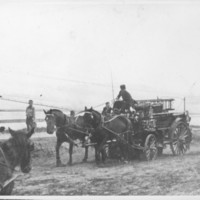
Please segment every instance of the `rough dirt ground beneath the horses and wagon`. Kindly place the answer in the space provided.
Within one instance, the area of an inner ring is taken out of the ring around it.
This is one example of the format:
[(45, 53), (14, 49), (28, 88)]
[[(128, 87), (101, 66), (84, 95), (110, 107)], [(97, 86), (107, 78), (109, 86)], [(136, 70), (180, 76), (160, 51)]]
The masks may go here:
[[(18, 177), (13, 195), (199, 195), (200, 130), (194, 131), (191, 150), (174, 157), (169, 150), (156, 161), (134, 160), (122, 164), (108, 160), (97, 167), (94, 150), (88, 163), (82, 163), (84, 149), (75, 148), (72, 166), (55, 165), (56, 138), (35, 138), (33, 169)], [(61, 148), (64, 163), (68, 146)]]

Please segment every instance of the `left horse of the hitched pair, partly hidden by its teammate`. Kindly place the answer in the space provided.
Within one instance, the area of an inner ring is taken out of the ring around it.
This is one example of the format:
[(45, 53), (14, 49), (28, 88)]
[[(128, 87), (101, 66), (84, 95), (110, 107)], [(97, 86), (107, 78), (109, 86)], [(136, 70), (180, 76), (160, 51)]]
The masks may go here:
[[(62, 111), (57, 109), (50, 109), (48, 111), (44, 110), (46, 115), (45, 120), (47, 123), (47, 133), (53, 134), (56, 128), (56, 165), (63, 166), (59, 149), (63, 142), (69, 143), (69, 162), (68, 164), (72, 164), (72, 153), (73, 146), (76, 145), (74, 140), (79, 139), (83, 144), (85, 142), (85, 137), (89, 134), (87, 133), (87, 129), (85, 127), (83, 117), (78, 116), (75, 118), (75, 122), (71, 122), (71, 118), (65, 115)], [(85, 156), (83, 158), (83, 162), (87, 161), (88, 158), (88, 147), (85, 147)]]

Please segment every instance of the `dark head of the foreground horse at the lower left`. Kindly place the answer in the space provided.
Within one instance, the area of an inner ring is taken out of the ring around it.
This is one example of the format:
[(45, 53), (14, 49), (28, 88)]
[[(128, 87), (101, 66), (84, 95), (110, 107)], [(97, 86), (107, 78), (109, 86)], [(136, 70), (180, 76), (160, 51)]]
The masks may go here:
[[(34, 133), (34, 128), (28, 133), (24, 131), (14, 131), (9, 128), (11, 138), (4, 143), (5, 153), (8, 152), (8, 159), (12, 167), (20, 165), (23, 173), (29, 173), (31, 170), (31, 152), (34, 150), (34, 143), (30, 140)], [(12, 154), (11, 154), (12, 152)], [(9, 158), (9, 156), (11, 156)]]

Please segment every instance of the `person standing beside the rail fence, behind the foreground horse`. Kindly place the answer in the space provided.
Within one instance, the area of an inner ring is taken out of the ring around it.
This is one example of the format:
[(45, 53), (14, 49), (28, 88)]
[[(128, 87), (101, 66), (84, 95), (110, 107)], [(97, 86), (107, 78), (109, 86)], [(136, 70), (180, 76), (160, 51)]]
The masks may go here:
[(35, 122), (35, 108), (33, 107), (33, 100), (29, 100), (29, 106), (26, 108), (26, 125), (27, 130), (30, 131), (33, 127), (36, 127)]

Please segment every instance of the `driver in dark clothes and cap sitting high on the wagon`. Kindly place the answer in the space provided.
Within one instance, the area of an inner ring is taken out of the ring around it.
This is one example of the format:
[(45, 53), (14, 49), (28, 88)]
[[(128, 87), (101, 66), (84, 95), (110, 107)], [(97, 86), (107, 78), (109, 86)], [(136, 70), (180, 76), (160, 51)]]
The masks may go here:
[(124, 113), (125, 110), (128, 110), (130, 112), (130, 107), (134, 108), (134, 105), (137, 104), (137, 102), (131, 97), (130, 93), (126, 91), (125, 85), (120, 85), (120, 92), (117, 96), (117, 99), (122, 97), (123, 99), (123, 105), (121, 108), (121, 111)]

